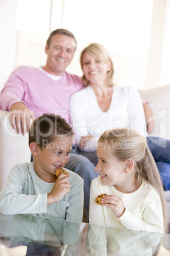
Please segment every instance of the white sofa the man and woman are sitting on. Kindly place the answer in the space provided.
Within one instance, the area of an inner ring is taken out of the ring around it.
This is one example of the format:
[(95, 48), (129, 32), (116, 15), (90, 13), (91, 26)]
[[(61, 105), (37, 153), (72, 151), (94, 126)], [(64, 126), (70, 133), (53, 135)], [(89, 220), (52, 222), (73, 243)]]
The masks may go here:
[[(170, 139), (170, 85), (151, 90), (140, 90), (140, 95), (147, 100), (155, 115), (154, 131), (150, 136)], [(0, 190), (2, 189), (11, 167), (18, 162), (29, 162), (30, 150), (28, 134), (16, 134), (10, 124), (7, 111), (0, 110)], [(170, 190), (165, 192), (170, 223)]]

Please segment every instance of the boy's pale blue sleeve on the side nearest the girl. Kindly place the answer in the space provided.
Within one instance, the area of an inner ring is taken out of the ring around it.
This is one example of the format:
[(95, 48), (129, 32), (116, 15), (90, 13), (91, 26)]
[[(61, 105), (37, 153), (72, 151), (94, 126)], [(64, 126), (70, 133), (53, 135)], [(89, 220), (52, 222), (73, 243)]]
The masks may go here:
[(66, 210), (66, 220), (82, 222), (83, 206), (84, 206), (84, 180), (73, 178), (73, 183), (70, 188), (68, 206)]

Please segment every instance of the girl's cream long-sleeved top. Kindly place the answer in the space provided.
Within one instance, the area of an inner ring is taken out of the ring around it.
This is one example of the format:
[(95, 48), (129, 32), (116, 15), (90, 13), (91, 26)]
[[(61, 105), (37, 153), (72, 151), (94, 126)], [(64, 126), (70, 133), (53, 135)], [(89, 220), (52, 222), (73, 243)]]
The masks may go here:
[[(121, 198), (126, 208), (124, 214), (116, 218), (110, 208), (96, 204), (95, 199), (100, 194), (115, 195)], [(115, 189), (114, 185), (103, 185), (101, 178), (98, 177), (91, 182), (89, 223), (164, 233), (164, 217), (159, 194), (152, 185), (145, 181), (138, 190), (124, 194)]]

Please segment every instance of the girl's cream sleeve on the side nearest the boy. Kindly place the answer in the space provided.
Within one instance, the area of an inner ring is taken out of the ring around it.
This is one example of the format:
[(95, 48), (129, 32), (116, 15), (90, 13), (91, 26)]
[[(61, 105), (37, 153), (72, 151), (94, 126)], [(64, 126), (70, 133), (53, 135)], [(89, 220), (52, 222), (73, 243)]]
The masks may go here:
[(97, 196), (101, 194), (101, 190), (95, 180), (91, 181), (90, 196), (89, 196), (89, 224), (106, 225), (103, 208), (95, 202)]

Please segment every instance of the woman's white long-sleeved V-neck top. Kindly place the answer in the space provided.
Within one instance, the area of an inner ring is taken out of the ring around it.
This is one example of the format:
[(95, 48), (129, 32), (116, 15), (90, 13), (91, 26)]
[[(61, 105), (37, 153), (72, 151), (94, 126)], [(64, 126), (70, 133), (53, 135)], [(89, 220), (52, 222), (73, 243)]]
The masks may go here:
[(108, 129), (131, 127), (147, 136), (145, 114), (138, 90), (114, 85), (108, 111), (101, 111), (95, 92), (88, 86), (70, 97), (70, 117), (77, 143), (81, 136), (99, 138)]

